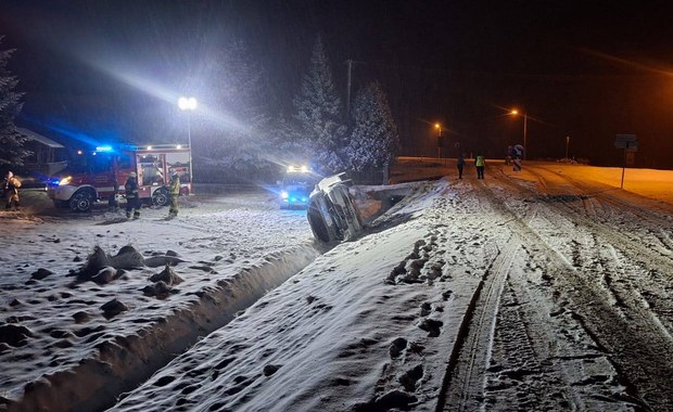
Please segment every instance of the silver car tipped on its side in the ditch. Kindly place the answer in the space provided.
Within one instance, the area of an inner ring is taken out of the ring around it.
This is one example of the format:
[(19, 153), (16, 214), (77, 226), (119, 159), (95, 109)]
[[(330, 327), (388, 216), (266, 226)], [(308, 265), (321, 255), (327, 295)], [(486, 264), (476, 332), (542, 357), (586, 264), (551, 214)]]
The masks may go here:
[(314, 236), (323, 243), (351, 241), (363, 231), (363, 220), (348, 190), (345, 173), (325, 178), (308, 201), (306, 217)]

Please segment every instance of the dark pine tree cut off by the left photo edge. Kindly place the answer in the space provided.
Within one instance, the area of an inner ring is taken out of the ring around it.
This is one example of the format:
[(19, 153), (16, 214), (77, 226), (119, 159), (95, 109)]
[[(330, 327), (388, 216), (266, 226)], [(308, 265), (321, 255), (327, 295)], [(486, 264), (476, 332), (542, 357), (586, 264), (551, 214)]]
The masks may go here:
[[(0, 43), (3, 37), (0, 37)], [(21, 112), (23, 93), (15, 91), (18, 79), (8, 69), (14, 50), (0, 50), (0, 165), (23, 165), (30, 152), (23, 147), (26, 141), (16, 131), (14, 117)]]

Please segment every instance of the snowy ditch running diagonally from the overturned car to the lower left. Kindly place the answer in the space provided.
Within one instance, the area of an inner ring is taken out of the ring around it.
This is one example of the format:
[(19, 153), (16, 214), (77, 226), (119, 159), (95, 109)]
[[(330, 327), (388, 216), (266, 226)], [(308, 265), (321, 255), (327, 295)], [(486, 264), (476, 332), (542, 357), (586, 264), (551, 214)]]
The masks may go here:
[(122, 392), (136, 387), (201, 337), (229, 323), (237, 312), (318, 255), (312, 245), (267, 255), (233, 276), (193, 293), (192, 299), (149, 327), (98, 343), (99, 350), (76, 366), (26, 385), (23, 397), (10, 402), (8, 410), (91, 411), (111, 405)]

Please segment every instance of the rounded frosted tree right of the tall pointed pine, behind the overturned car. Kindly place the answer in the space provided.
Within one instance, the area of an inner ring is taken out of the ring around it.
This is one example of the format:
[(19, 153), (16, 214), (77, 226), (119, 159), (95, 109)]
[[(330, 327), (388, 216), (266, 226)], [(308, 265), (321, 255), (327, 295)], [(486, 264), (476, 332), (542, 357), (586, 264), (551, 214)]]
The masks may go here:
[(397, 127), (378, 82), (360, 90), (353, 104), (353, 131), (345, 153), (353, 170), (381, 168), (399, 144)]

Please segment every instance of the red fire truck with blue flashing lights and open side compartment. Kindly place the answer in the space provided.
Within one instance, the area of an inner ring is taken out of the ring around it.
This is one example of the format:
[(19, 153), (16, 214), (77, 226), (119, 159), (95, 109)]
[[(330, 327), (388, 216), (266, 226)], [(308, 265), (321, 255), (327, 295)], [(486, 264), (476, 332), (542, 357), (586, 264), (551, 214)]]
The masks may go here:
[(169, 175), (180, 177), (180, 195), (192, 193), (191, 149), (180, 144), (99, 146), (78, 157), (53, 179), (47, 192), (58, 207), (87, 211), (98, 201), (124, 195), (124, 183), (135, 171), (141, 203), (165, 206)]

